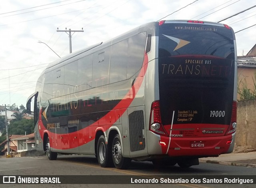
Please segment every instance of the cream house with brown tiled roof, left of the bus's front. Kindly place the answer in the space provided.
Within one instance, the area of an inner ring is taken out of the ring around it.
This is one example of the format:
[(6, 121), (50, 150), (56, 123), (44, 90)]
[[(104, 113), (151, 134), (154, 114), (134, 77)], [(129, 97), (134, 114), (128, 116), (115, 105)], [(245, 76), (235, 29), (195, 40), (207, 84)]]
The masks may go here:
[[(0, 146), (4, 144), (4, 152), (5, 156), (7, 153), (7, 140), (0, 143)], [(10, 155), (13, 157), (24, 156), (25, 152), (28, 150), (33, 150), (36, 148), (34, 133), (28, 135), (10, 135), (9, 136), (9, 144), (10, 144)]]

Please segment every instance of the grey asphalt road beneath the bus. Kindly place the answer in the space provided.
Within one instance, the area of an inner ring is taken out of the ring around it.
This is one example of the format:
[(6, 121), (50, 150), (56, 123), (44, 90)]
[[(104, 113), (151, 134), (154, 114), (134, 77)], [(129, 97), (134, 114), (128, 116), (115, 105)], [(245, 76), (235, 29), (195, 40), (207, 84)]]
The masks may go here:
[[(175, 177), (186, 178), (193, 177), (194, 179), (201, 179), (204, 176), (210, 177), (206, 180), (215, 181), (218, 177), (233, 178), (238, 177), (242, 179), (244, 176), (241, 175), (256, 175), (256, 168), (246, 168), (239, 166), (225, 166), (219, 164), (208, 164), (200, 163), (198, 166), (192, 166), (190, 168), (180, 168), (176, 166), (166, 166), (162, 168), (154, 168), (151, 162), (134, 162), (132, 161), (131, 166), (128, 170), (118, 170), (116, 168), (101, 168), (98, 165), (98, 161), (94, 156), (58, 156), (56, 161), (50, 161), (46, 157), (22, 157), (22, 158), (2, 158), (0, 159), (0, 175), (1, 176), (57, 176), (61, 175), (64, 178), (76, 179), (84, 178), (85, 182), (92, 180), (94, 184), (0, 184), (0, 187), (19, 187), (19, 188), (47, 188), (47, 187), (57, 187), (57, 188), (98, 188), (98, 187), (116, 187), (122, 186), (126, 187), (138, 187), (138, 188), (148, 188), (148, 187), (170, 187), (172, 188), (215, 188), (218, 183), (211, 184), (122, 184), (122, 181), (130, 177), (137, 179), (153, 179), (164, 177), (167, 178)], [(68, 175), (68, 176), (65, 176)], [(73, 176), (71, 176), (73, 175)], [(102, 175), (102, 176), (78, 176), (78, 175)], [(108, 176), (106, 176), (108, 175)], [(121, 175), (121, 176), (120, 176)], [(177, 175), (177, 176), (175, 176)], [(230, 176), (232, 175), (232, 176)], [(123, 178), (123, 177), (125, 178)], [(62, 178), (63, 178), (62, 177)], [(110, 178), (111, 183), (105, 184), (105, 178)], [(249, 176), (248, 176), (249, 177)], [(251, 176), (250, 176), (251, 177)], [(96, 180), (95, 180), (96, 178)], [(63, 180), (63, 179), (62, 179)], [(78, 179), (76, 179), (78, 180)], [(80, 180), (80, 179), (79, 179)], [(78, 181), (79, 181), (78, 180)], [(134, 181), (135, 179), (133, 179)], [(202, 179), (201, 179), (202, 180)], [(78, 182), (77, 181), (77, 182)], [(256, 186), (254, 184), (219, 184), (221, 187), (225, 188), (236, 188), (236, 187), (248, 187), (253, 188)]]

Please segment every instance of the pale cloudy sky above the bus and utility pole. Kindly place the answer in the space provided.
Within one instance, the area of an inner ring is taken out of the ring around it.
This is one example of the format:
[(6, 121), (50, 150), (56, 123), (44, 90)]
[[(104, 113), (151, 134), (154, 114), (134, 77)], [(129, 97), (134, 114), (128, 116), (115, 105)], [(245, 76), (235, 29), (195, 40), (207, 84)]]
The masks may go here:
[[(190, 4), (190, 5), (189, 5)], [(253, 0), (8, 0), (0, 4), (0, 105), (26, 106), (46, 66), (72, 52), (158, 20), (218, 22)], [(173, 13), (173, 14), (172, 14)], [(168, 16), (169, 15), (169, 16)], [(167, 16), (167, 17), (166, 17)], [(256, 7), (221, 23), (236, 33), (237, 55), (256, 44)], [(240, 32), (238, 32), (240, 31)], [(38, 43), (38, 41), (43, 43)], [(50, 48), (48, 48), (48, 46)], [(58, 54), (56, 55), (52, 50)]]

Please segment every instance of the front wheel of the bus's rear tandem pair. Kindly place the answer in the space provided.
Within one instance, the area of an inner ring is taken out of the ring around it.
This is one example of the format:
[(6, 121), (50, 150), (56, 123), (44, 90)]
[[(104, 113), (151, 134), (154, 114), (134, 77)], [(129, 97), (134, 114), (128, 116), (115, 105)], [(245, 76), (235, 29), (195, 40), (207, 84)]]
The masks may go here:
[(98, 139), (97, 144), (97, 157), (98, 163), (101, 167), (110, 167), (111, 160), (111, 150), (108, 149), (108, 145), (106, 144), (105, 137), (103, 135)]

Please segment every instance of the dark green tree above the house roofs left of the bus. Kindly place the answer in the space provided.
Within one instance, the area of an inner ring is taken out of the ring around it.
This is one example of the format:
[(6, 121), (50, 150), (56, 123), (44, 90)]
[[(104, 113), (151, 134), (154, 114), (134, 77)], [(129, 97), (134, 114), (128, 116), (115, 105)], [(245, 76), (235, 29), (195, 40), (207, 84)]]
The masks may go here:
[(8, 126), (9, 134), (31, 134), (34, 132), (34, 120), (22, 119), (20, 121), (12, 121)]

